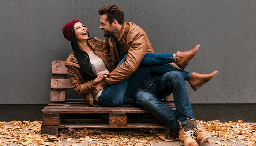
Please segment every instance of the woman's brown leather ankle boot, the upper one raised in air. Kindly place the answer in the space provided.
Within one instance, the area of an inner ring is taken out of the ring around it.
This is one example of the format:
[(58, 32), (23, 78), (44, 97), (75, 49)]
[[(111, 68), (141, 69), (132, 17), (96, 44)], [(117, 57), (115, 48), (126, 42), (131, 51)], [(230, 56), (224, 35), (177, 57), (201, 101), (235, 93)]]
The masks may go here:
[(176, 56), (173, 58), (174, 63), (178, 65), (181, 69), (184, 69), (188, 65), (188, 61), (191, 60), (199, 49), (199, 44), (197, 44), (193, 49), (185, 52), (176, 52)]

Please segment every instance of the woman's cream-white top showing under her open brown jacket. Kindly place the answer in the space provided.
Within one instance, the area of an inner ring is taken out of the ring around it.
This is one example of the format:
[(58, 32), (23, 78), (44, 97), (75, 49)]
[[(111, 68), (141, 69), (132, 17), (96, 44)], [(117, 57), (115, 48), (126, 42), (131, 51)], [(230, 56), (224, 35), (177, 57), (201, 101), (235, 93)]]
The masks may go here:
[[(106, 65), (103, 62), (103, 60), (101, 58), (99, 58), (98, 55), (96, 55), (93, 50), (91, 50), (91, 52), (88, 55), (89, 55), (91, 64), (95, 68), (95, 70), (93, 70), (93, 72), (97, 76), (99, 76), (99, 74), (101, 74), (103, 71), (107, 70)], [(97, 95), (94, 97), (94, 99), (98, 101), (98, 98), (101, 95), (101, 93), (102, 93), (102, 90), (97, 93)]]

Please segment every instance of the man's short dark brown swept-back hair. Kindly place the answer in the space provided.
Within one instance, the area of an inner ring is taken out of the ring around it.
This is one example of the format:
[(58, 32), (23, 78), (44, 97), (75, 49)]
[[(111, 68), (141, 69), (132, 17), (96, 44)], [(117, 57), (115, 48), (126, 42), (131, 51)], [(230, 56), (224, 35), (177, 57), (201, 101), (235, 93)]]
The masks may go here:
[(124, 12), (117, 4), (103, 5), (98, 10), (99, 15), (107, 14), (107, 21), (111, 24), (114, 19), (121, 25), (124, 23)]

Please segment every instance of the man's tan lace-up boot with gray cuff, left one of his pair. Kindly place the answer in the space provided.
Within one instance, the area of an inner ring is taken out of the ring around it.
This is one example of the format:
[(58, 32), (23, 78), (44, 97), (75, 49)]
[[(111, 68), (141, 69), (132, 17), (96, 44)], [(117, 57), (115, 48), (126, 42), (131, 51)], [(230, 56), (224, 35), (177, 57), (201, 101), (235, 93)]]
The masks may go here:
[(187, 118), (186, 123), (184, 127), (182, 128), (181, 122), (180, 125), (180, 131), (179, 131), (179, 139), (180, 143), (184, 146), (198, 146), (198, 143), (195, 141), (195, 137), (193, 135), (193, 127), (196, 120)]

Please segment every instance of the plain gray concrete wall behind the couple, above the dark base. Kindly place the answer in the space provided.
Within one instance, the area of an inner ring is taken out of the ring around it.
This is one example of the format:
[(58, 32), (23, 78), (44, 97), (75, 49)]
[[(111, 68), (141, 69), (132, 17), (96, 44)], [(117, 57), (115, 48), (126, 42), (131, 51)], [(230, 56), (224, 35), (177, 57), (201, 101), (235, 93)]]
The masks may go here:
[(103, 39), (97, 10), (108, 3), (147, 32), (156, 53), (200, 43), (186, 70), (219, 73), (196, 92), (187, 84), (191, 103), (256, 103), (254, 0), (0, 0), (0, 104), (49, 103), (51, 62), (71, 52), (61, 28), (78, 19)]

